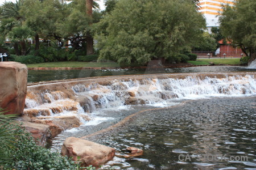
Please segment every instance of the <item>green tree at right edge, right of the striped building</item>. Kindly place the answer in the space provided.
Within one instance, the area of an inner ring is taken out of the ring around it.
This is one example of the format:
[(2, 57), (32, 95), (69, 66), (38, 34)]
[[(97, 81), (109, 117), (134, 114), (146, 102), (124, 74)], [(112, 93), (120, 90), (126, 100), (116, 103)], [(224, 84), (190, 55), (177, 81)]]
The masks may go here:
[(220, 16), (222, 35), (240, 46), (251, 61), (256, 58), (256, 1), (238, 0), (234, 6), (223, 6)]

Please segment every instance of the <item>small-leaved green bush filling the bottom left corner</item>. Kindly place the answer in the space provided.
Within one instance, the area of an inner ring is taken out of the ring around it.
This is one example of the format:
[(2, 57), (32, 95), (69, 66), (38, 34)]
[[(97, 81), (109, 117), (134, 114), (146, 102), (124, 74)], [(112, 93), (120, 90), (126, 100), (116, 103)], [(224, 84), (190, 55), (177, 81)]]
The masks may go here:
[(11, 124), (11, 126), (15, 136), (13, 149), (5, 145), (0, 147), (6, 155), (10, 155), (7, 162), (0, 161), (0, 167), (2, 165), (3, 169), (82, 169), (79, 164), (68, 159), (67, 156), (61, 156), (57, 152), (37, 146), (30, 133), (20, 126), (16, 124)]

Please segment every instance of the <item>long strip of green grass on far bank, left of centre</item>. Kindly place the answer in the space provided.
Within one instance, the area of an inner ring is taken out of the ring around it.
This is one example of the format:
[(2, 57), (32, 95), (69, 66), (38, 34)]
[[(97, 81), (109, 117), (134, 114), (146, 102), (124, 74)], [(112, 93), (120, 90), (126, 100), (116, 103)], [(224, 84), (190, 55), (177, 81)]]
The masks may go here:
[(137, 63), (119, 65), (115, 62), (81, 62), (81, 61), (62, 61), (62, 62), (44, 62), (27, 65), (32, 67), (120, 67), (120, 66), (138, 66)]

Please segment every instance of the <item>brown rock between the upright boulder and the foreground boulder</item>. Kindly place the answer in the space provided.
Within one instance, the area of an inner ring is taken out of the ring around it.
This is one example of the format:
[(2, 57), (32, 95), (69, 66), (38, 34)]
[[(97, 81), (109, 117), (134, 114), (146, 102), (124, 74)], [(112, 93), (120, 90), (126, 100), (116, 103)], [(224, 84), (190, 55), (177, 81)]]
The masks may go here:
[(26, 121), (19, 121), (18, 123), (21, 123), (20, 126), (31, 133), (37, 145), (46, 145), (46, 139), (51, 136), (48, 125), (34, 124)]

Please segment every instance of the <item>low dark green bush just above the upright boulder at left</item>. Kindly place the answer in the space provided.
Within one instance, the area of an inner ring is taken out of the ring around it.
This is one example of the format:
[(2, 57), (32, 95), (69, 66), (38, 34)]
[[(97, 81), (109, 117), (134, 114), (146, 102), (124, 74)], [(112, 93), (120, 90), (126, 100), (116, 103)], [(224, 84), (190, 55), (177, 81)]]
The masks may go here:
[(20, 63), (24, 63), (24, 64), (32, 64), (32, 63), (42, 63), (42, 62), (44, 62), (44, 59), (42, 57), (32, 56), (32, 55), (16, 56), (16, 55), (12, 54), (11, 56), (9, 56), (8, 60), (9, 61), (20, 62)]

